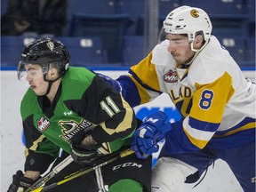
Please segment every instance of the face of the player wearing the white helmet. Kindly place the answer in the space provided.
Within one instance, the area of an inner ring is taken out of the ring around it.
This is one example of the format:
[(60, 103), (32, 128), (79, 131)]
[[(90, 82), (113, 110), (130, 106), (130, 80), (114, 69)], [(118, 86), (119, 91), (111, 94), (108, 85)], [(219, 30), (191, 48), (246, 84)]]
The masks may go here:
[(168, 34), (166, 38), (169, 40), (168, 52), (178, 64), (183, 64), (193, 58), (195, 52), (191, 51), (188, 37), (178, 34)]

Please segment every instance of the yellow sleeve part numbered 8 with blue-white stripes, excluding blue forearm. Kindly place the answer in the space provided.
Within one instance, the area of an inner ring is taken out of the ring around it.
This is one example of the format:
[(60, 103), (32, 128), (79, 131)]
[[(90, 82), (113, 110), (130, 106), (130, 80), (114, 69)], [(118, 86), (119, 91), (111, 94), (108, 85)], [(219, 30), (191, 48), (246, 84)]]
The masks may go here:
[(184, 132), (196, 147), (204, 148), (212, 139), (233, 93), (232, 77), (228, 73), (211, 84), (196, 84), (193, 107), (183, 123)]

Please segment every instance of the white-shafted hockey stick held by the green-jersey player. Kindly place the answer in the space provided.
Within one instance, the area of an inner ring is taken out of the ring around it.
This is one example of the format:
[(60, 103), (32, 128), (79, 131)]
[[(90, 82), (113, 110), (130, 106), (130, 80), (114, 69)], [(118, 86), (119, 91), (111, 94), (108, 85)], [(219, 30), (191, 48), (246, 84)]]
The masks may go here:
[(70, 164), (73, 161), (74, 159), (72, 158), (72, 156), (66, 157), (63, 161), (60, 162), (60, 164), (57, 164), (55, 167), (53, 167), (52, 172), (49, 172), (43, 178), (37, 180), (36, 183), (27, 188), (25, 192), (33, 191), (33, 189), (44, 186), (48, 180), (52, 179), (54, 175), (63, 170), (66, 166), (68, 166), (68, 164)]

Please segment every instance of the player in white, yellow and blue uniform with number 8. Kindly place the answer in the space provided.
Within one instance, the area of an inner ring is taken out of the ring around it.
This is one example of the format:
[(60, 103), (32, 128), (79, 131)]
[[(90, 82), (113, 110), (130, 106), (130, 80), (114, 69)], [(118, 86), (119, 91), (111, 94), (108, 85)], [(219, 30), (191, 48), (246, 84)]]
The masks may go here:
[[(196, 182), (217, 159), (224, 160), (246, 192), (255, 191), (255, 92), (236, 61), (212, 33), (204, 10), (181, 6), (164, 20), (164, 37), (144, 60), (108, 83), (133, 107), (170, 95), (182, 116), (148, 116), (134, 133), (132, 149), (139, 158), (158, 150), (152, 191), (177, 192)], [(166, 101), (167, 102), (167, 101)]]

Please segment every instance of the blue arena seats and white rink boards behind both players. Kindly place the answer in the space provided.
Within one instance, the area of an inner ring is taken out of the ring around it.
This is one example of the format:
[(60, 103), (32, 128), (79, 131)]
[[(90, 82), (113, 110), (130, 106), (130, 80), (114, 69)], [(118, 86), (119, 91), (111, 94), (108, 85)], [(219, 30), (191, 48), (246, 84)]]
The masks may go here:
[[(7, 2), (1, 0), (1, 16), (6, 12)], [(12, 174), (23, 169), (25, 160), (20, 100), (28, 89), (28, 83), (19, 82), (15, 72), (24, 44), (42, 36), (54, 37), (67, 46), (72, 65), (92, 67), (116, 78), (152, 50), (166, 14), (184, 4), (201, 7), (208, 12), (213, 25), (212, 35), (217, 36), (228, 49), (244, 70), (244, 76), (255, 81), (255, 0), (68, 0), (68, 26), (63, 36), (36, 33), (1, 36), (2, 192), (12, 182)], [(97, 20), (91, 22), (88, 18)], [(130, 21), (126, 22), (127, 19)], [(91, 28), (92, 33), (86, 34), (86, 28)], [(113, 44), (116, 45), (113, 47)], [(171, 122), (179, 119), (178, 112), (166, 100), (169, 97), (163, 94), (147, 105), (134, 108), (136, 115), (143, 119), (160, 109), (169, 114)], [(200, 185), (193, 188), (194, 185), (187, 184), (180, 191), (243, 191), (228, 165), (221, 160), (216, 161), (214, 167), (209, 167)]]

